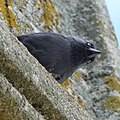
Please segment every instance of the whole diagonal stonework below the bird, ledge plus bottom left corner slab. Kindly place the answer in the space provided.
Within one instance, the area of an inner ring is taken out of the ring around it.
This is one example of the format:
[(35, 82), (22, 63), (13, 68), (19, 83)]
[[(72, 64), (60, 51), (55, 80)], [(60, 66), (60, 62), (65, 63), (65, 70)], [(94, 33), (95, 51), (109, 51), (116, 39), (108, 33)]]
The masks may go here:
[(0, 118), (92, 120), (92, 117), (0, 21)]

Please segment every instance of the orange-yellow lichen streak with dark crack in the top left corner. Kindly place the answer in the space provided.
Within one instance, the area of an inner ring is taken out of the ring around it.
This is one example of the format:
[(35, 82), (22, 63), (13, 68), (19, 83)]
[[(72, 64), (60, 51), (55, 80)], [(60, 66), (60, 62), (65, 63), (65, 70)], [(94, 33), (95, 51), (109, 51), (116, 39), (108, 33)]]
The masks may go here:
[(2, 12), (4, 19), (8, 23), (8, 26), (10, 28), (18, 29), (16, 17), (11, 8), (13, 8), (12, 0), (0, 0), (0, 12)]

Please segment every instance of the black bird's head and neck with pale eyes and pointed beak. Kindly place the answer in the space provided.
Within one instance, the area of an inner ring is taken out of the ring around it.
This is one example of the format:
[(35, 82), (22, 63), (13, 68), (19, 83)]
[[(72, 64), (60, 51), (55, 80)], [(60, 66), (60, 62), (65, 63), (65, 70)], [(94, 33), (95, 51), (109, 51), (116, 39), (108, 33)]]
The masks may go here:
[(101, 53), (92, 43), (84, 39), (69, 37), (70, 39), (72, 41), (72, 61), (77, 68), (80, 68), (84, 63), (93, 62), (95, 57)]

